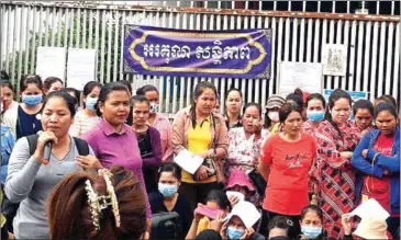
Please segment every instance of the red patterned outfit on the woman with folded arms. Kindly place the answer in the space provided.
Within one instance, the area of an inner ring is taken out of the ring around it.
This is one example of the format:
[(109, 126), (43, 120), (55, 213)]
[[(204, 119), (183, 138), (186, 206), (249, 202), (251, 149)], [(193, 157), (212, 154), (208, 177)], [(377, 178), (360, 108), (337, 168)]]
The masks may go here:
[(324, 229), (328, 238), (344, 236), (341, 217), (354, 209), (355, 171), (350, 160), (339, 152), (353, 151), (360, 138), (352, 122), (341, 129), (341, 135), (327, 121), (316, 132), (319, 168), (319, 205), (323, 210)]

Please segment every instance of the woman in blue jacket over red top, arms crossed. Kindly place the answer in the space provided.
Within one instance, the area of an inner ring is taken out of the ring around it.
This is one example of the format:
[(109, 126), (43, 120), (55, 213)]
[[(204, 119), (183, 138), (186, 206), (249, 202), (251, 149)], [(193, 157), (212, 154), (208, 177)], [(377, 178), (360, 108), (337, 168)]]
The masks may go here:
[(374, 198), (390, 213), (388, 230), (393, 238), (400, 227), (400, 128), (396, 107), (388, 102), (375, 110), (377, 129), (364, 136), (352, 159), (359, 171), (355, 203)]

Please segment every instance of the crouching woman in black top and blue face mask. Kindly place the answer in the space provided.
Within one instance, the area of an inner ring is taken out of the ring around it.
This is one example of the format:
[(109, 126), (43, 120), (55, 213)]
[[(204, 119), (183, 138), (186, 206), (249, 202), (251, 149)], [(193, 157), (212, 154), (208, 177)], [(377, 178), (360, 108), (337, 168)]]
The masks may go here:
[(177, 190), (181, 183), (181, 170), (177, 163), (160, 167), (158, 192), (149, 194), (152, 214), (176, 212), (182, 226), (182, 239), (187, 236), (193, 215), (189, 202)]

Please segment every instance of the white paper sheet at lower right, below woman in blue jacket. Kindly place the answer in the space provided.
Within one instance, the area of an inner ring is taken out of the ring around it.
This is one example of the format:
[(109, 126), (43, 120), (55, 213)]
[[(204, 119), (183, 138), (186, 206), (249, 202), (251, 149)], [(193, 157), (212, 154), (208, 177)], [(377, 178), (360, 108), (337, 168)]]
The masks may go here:
[(349, 213), (349, 216), (358, 216), (360, 218), (386, 220), (390, 214), (374, 198), (365, 201), (357, 208)]

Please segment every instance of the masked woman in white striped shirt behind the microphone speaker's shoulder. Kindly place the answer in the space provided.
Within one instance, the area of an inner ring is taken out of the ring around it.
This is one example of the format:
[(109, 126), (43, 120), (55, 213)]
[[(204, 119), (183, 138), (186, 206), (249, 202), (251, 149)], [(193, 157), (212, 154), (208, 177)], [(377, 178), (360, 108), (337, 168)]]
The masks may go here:
[(99, 123), (99, 116), (96, 114), (96, 103), (98, 102), (102, 84), (90, 81), (83, 87), (83, 110), (75, 115), (74, 124), (69, 134), (74, 137), (81, 137), (92, 129)]

